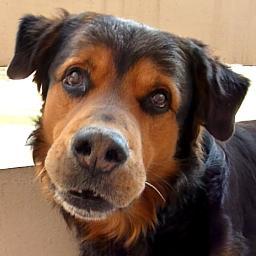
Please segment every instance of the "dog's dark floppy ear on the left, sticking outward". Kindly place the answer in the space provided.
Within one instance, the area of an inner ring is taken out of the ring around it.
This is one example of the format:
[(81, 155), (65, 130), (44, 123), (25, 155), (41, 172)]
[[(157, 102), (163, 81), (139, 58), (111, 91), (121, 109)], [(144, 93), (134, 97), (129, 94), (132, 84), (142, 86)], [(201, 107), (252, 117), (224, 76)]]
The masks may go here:
[(24, 16), (17, 32), (15, 54), (7, 69), (11, 79), (23, 79), (36, 71), (34, 81), (38, 90), (42, 88), (44, 99), (49, 84), (48, 68), (56, 54), (59, 30), (66, 16), (68, 13), (64, 10), (57, 19)]

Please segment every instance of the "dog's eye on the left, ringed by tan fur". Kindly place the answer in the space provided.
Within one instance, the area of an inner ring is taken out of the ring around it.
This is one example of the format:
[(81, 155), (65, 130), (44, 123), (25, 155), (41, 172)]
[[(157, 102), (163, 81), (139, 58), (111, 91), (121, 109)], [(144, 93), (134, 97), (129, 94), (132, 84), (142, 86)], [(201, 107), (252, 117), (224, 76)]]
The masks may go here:
[(84, 95), (89, 87), (89, 75), (81, 68), (71, 68), (66, 72), (62, 84), (68, 93), (79, 97)]

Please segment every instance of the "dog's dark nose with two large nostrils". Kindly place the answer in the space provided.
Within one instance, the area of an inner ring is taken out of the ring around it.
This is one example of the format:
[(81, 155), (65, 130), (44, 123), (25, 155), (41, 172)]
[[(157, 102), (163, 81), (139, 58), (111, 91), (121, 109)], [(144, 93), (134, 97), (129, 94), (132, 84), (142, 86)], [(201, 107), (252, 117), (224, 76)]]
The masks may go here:
[(87, 127), (75, 135), (72, 150), (78, 162), (89, 170), (110, 172), (128, 158), (125, 138), (109, 128)]

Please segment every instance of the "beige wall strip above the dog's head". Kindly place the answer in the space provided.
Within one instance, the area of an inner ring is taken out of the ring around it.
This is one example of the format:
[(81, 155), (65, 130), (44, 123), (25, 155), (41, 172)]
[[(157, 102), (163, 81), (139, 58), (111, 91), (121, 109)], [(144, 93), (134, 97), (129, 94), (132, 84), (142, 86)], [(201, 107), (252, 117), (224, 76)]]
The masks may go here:
[(59, 7), (136, 19), (201, 39), (228, 63), (256, 64), (255, 0), (1, 0), (0, 66), (12, 56), (18, 19), (26, 13), (52, 15)]

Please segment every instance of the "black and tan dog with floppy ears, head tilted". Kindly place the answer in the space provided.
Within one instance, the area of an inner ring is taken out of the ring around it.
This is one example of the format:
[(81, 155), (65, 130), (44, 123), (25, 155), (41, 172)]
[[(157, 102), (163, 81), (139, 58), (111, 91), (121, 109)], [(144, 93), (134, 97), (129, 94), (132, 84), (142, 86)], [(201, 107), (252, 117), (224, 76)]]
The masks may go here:
[(7, 74), (33, 72), (36, 175), (81, 256), (256, 255), (247, 78), (195, 39), (66, 11), (21, 19)]

